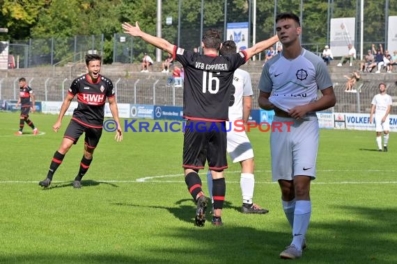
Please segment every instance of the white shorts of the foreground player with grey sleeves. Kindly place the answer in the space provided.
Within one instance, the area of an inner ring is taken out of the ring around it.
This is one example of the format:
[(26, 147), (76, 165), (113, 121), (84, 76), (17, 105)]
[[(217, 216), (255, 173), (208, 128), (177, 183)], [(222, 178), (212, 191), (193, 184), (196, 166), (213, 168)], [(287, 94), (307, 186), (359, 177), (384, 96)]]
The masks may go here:
[(273, 181), (291, 181), (297, 175), (316, 179), (318, 118), (309, 116), (297, 120), (292, 117), (274, 116), (273, 125), (274, 122), (293, 124), (290, 125), (290, 131), (283, 125), (281, 131), (272, 129), (270, 133)]

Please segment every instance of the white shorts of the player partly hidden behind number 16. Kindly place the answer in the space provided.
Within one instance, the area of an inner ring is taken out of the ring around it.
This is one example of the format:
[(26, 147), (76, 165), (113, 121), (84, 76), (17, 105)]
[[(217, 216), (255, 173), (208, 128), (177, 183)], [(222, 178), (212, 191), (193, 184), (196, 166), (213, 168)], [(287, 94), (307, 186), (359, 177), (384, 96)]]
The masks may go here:
[[(231, 124), (231, 131), (228, 131), (227, 133), (227, 151), (231, 156), (233, 163), (254, 158), (254, 151), (252, 150), (251, 142), (249, 142), (249, 138), (247, 137), (245, 131), (234, 131), (233, 122), (229, 122), (229, 124)], [(228, 129), (227, 126), (226, 129)], [(238, 128), (238, 130), (240, 129), (241, 128)]]

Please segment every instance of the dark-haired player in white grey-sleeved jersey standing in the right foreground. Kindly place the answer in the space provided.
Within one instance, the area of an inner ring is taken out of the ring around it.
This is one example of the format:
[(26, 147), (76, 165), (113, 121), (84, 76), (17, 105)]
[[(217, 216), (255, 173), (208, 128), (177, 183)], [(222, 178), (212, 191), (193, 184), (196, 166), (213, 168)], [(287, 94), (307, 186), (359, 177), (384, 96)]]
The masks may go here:
[(270, 150), (272, 179), (279, 182), (283, 210), (293, 229), (293, 241), (280, 257), (300, 258), (311, 216), (310, 183), (316, 179), (316, 111), (334, 106), (336, 97), (325, 63), (299, 44), (299, 17), (277, 15), (276, 29), (283, 51), (263, 67), (258, 104), (274, 110), (274, 122), (293, 122), (290, 130), (272, 131)]

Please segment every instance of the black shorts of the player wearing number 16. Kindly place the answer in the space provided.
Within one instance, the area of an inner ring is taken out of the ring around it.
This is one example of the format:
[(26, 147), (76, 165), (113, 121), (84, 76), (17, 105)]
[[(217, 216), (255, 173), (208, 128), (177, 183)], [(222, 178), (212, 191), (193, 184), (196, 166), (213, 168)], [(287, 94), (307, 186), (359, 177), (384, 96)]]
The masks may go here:
[(183, 140), (183, 167), (201, 170), (208, 160), (210, 170), (228, 167), (226, 122), (187, 120)]

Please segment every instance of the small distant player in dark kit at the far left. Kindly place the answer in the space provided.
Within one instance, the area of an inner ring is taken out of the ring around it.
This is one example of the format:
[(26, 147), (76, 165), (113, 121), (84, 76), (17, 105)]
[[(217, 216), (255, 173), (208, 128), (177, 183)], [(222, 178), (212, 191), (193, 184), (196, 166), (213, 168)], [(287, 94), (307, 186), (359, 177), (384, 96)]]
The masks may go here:
[(33, 129), (33, 135), (38, 134), (37, 127), (34, 126), (31, 119), (29, 119), (29, 112), (36, 111), (33, 90), (26, 84), (26, 79), (20, 78), (20, 99), (18, 99), (15, 108), (21, 104), (21, 115), (20, 115), (20, 130), (18, 130), (14, 135), (22, 135), (22, 130), (24, 129), (24, 124), (28, 124)]

